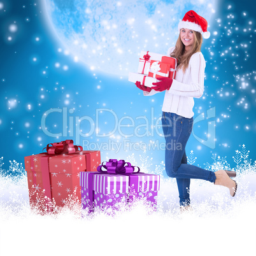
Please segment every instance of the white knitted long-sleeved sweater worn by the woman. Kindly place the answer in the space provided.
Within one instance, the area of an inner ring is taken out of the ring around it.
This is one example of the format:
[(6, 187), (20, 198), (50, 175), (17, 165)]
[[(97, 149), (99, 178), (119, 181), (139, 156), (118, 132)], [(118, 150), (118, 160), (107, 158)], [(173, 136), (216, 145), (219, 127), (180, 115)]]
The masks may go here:
[[(175, 47), (169, 48), (167, 55), (173, 52)], [(182, 69), (176, 72), (176, 77), (169, 90), (166, 90), (162, 111), (171, 112), (181, 115), (182, 117), (191, 118), (194, 116), (193, 97), (199, 98), (204, 91), (204, 69), (205, 60), (201, 52), (194, 53), (188, 64), (188, 68), (183, 73)], [(157, 91), (143, 91), (145, 96), (152, 96)]]

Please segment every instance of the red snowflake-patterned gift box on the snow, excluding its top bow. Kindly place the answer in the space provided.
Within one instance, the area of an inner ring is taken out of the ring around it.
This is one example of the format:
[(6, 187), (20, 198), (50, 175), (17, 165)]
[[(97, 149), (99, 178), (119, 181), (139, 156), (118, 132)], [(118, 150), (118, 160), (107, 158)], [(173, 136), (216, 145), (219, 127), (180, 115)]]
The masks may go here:
[(71, 195), (81, 202), (80, 171), (97, 171), (99, 164), (99, 151), (25, 157), (31, 206), (50, 210), (52, 205), (64, 206)]

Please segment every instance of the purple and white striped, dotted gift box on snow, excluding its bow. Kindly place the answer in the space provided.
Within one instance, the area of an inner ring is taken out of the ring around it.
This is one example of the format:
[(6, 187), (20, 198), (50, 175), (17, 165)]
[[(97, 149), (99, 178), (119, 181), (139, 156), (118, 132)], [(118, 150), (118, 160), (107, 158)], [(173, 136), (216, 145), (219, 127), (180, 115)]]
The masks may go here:
[(146, 199), (156, 208), (159, 184), (160, 176), (155, 174), (81, 172), (82, 208), (92, 212), (118, 203), (129, 204), (138, 198)]

